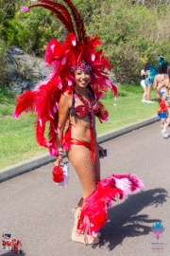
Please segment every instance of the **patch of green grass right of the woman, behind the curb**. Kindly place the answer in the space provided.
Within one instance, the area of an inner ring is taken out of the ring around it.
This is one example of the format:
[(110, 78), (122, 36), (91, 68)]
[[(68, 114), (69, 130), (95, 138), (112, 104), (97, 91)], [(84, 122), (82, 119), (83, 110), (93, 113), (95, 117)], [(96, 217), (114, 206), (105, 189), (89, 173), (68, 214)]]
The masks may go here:
[[(141, 90), (141, 87), (126, 84), (121, 87), (120, 96), (116, 101), (110, 94), (107, 99), (103, 100), (106, 109), (109, 111), (109, 120), (108, 122), (103, 122), (102, 125), (98, 120), (96, 121), (97, 134), (106, 133), (157, 115), (159, 105), (156, 101), (156, 92), (154, 90), (151, 91), (151, 100), (154, 103), (148, 104), (142, 102), (143, 90)], [(136, 91), (136, 89), (139, 91)]]

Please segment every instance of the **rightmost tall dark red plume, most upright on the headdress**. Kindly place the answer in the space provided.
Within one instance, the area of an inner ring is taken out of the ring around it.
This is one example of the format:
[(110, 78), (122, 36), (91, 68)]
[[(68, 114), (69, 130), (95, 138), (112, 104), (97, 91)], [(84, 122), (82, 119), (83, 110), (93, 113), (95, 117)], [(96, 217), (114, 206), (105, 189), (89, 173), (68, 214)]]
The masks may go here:
[(84, 27), (84, 22), (83, 22), (83, 19), (81, 18), (81, 15), (77, 11), (76, 7), (73, 5), (71, 0), (63, 0), (63, 1), (72, 11), (72, 15), (76, 23), (76, 33), (78, 36), (78, 41), (85, 42), (86, 29)]

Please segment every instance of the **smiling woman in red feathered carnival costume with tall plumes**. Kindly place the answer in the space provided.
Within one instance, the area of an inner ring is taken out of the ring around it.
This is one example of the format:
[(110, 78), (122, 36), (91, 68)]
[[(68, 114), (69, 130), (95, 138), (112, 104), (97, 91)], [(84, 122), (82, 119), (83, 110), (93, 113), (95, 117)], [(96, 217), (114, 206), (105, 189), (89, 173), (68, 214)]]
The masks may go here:
[[(76, 7), (70, 0), (63, 2), (66, 7), (42, 0), (22, 9), (50, 9), (69, 34), (63, 44), (53, 39), (47, 45), (45, 62), (53, 70), (34, 91), (18, 98), (13, 116), (17, 118), (23, 111), (37, 113), (36, 139), (51, 155), (58, 156), (56, 166), (66, 151), (82, 186), (72, 240), (98, 244), (99, 230), (106, 224), (111, 200), (115, 200), (115, 196), (125, 199), (130, 192), (144, 190), (144, 184), (134, 174), (110, 174), (100, 180), (98, 151), (103, 153), (103, 149), (96, 141), (95, 117), (101, 122), (108, 119), (108, 112), (99, 99), (108, 89), (117, 96), (117, 88), (108, 78), (109, 61), (102, 50), (96, 50), (102, 45), (98, 36), (86, 36)], [(48, 139), (44, 137), (46, 122), (49, 122)]]

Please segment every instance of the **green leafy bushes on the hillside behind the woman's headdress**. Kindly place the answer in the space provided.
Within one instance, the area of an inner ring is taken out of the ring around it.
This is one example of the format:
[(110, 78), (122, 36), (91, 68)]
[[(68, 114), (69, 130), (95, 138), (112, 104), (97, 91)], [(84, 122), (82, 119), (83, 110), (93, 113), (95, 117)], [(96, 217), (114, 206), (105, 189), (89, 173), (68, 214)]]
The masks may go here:
[[(87, 34), (99, 34), (118, 82), (139, 81), (141, 67), (146, 62), (157, 65), (158, 54), (170, 62), (170, 1), (73, 2), (84, 19)], [(8, 47), (20, 46), (42, 57), (49, 40), (55, 37), (62, 42), (67, 32), (49, 10), (37, 8), (21, 13), (21, 6), (29, 4), (26, 0), (0, 0), (0, 38)]]

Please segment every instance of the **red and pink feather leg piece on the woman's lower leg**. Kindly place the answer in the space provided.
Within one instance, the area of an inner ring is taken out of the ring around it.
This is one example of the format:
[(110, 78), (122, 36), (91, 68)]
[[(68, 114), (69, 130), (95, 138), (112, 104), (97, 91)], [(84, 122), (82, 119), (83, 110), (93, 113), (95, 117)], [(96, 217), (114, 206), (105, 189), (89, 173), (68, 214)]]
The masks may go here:
[(120, 199), (126, 198), (131, 192), (142, 190), (144, 184), (135, 174), (110, 174), (98, 182), (92, 195), (84, 199), (85, 207), (81, 210), (77, 231), (93, 235), (93, 232), (99, 231), (106, 224), (111, 200), (115, 201), (117, 196)]

